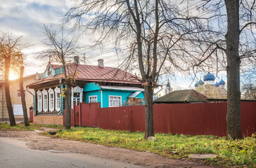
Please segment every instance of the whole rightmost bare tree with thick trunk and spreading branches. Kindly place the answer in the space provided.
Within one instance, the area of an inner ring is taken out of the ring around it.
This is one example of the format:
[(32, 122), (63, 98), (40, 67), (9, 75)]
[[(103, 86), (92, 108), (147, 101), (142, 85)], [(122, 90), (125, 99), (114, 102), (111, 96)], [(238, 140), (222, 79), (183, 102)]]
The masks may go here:
[(198, 45), (197, 52), (201, 53), (200, 57), (194, 57), (194, 67), (226, 70), (226, 137), (241, 139), (240, 76), (241, 69), (242, 72), (255, 69), (255, 0), (207, 0), (199, 8), (203, 9), (206, 22), (198, 33), (198, 40), (193, 41)]

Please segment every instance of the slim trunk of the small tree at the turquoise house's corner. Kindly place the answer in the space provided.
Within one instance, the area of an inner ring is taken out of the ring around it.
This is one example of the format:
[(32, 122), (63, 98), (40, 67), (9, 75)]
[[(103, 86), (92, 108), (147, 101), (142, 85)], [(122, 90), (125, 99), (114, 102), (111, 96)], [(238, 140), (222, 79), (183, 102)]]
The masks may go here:
[(70, 109), (71, 109), (71, 85), (67, 84), (67, 90), (65, 94), (65, 130), (71, 129), (70, 123)]

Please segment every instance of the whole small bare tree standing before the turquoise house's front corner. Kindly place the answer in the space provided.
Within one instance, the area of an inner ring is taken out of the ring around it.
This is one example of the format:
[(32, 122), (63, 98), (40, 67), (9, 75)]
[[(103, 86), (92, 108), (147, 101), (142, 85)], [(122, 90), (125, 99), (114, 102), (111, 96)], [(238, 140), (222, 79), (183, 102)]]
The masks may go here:
[[(71, 109), (71, 89), (75, 85), (75, 75), (77, 64), (68, 62), (68, 58), (79, 55), (80, 47), (77, 45), (78, 36), (71, 31), (65, 30), (64, 27), (44, 25), (45, 36), (44, 44), (48, 50), (41, 52), (40, 57), (51, 57), (53, 62), (58, 62), (64, 68), (63, 97), (65, 97), (65, 129), (70, 129), (70, 109)], [(75, 66), (75, 69), (74, 69)]]

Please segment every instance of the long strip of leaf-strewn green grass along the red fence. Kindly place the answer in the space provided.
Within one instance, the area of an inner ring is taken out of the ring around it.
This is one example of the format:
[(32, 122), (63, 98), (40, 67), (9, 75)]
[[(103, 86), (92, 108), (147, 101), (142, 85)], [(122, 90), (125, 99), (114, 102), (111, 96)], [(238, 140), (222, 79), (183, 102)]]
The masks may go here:
[(143, 132), (125, 132), (82, 127), (59, 130), (53, 137), (86, 141), (105, 146), (119, 146), (136, 151), (151, 151), (169, 158), (187, 158), (192, 153), (216, 153), (217, 158), (205, 160), (211, 165), (255, 167), (256, 138), (227, 141), (224, 137), (155, 134), (157, 142), (143, 139)]

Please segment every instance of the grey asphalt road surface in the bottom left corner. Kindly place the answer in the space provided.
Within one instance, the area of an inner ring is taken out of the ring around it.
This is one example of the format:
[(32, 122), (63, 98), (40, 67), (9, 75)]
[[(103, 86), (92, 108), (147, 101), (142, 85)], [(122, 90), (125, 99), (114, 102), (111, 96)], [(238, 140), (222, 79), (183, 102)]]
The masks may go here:
[(72, 168), (72, 167), (126, 167), (143, 168), (139, 165), (97, 158), (79, 153), (61, 151), (35, 151), (27, 148), (26, 142), (0, 137), (1, 168)]

